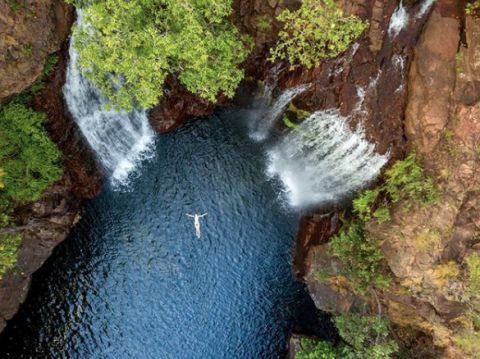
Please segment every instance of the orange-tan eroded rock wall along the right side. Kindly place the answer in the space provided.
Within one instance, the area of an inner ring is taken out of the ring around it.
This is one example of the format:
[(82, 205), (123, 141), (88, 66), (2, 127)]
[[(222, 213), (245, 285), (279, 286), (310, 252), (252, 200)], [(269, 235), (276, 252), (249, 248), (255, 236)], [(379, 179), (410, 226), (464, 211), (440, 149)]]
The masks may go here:
[(341, 268), (325, 244), (310, 248), (305, 276), (319, 308), (375, 315), (380, 302), (394, 328), (417, 330), (445, 358), (472, 357), (455, 337), (472, 320), (465, 258), (480, 253), (480, 19), (464, 18), (462, 6), (449, 0), (434, 5), (410, 55), (405, 115), (399, 118), (402, 150), (417, 153), (440, 198), (409, 210), (396, 204), (390, 221), (367, 224), (393, 284), (376, 295), (358, 295), (341, 276), (319, 280), (319, 272), (336, 276)]

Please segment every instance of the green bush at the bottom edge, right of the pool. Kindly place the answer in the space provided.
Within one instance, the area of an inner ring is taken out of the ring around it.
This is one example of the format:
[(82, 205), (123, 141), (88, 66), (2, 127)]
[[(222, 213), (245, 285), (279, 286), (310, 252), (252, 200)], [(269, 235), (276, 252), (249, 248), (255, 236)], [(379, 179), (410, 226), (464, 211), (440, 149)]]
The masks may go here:
[[(389, 339), (388, 321), (384, 319), (343, 314), (335, 318), (340, 337), (349, 345), (341, 358), (385, 359), (398, 350), (398, 344)], [(339, 357), (340, 358), (340, 357)]]

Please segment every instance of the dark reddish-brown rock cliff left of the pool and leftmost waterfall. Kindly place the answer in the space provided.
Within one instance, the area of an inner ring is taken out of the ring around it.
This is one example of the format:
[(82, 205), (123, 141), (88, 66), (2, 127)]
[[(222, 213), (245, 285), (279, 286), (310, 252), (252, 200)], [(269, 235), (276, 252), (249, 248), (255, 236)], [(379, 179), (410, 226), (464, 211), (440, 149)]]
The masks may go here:
[[(33, 99), (33, 107), (47, 114), (45, 125), (63, 152), (65, 169), (63, 178), (48, 188), (40, 201), (17, 207), (11, 227), (0, 229), (0, 233), (22, 234), (17, 264), (0, 279), (0, 332), (25, 300), (32, 274), (78, 221), (81, 199), (100, 190), (101, 173), (63, 101), (66, 38), (72, 15), (62, 1), (19, 2), (15, 10), (0, 2), (0, 54), (7, 56), (0, 59), (0, 99), (28, 88), (41, 73), (46, 56), (60, 50), (59, 61), (45, 79), (43, 91)], [(10, 25), (1, 28), (2, 24)], [(32, 44), (30, 56), (12, 55), (25, 43)]]

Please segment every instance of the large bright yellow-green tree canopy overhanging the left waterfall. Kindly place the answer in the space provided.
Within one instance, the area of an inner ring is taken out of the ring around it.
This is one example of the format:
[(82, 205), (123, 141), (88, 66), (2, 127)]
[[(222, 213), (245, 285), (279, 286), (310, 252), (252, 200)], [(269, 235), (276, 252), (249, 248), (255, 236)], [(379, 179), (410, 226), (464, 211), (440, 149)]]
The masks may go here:
[(228, 19), (232, 0), (70, 1), (84, 7), (79, 64), (114, 106), (151, 108), (169, 74), (209, 101), (235, 94), (250, 40)]

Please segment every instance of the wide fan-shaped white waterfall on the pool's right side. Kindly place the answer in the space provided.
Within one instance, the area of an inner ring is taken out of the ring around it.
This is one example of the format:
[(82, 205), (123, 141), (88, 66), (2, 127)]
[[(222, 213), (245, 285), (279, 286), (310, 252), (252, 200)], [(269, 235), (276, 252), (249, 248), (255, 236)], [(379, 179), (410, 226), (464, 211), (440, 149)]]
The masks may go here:
[(379, 175), (379, 155), (359, 126), (350, 130), (338, 110), (313, 113), (268, 151), (267, 175), (283, 183), (290, 206), (336, 203)]

